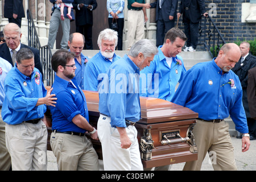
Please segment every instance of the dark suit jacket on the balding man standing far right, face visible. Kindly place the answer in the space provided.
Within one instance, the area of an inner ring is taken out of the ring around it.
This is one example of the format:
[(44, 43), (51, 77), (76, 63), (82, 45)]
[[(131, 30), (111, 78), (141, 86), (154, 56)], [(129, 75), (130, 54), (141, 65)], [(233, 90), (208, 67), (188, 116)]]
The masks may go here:
[(248, 71), (251, 68), (256, 67), (256, 57), (249, 55), (243, 60), (242, 66), (241, 66), (241, 59), (236, 63), (234, 68), (232, 68), (232, 71), (236, 73), (236, 75), (239, 77), (239, 80), (241, 82), (241, 86), (243, 89), (243, 107), (245, 108), (245, 114), (247, 118), (250, 118), (250, 111), (248, 106), (248, 98), (247, 98), (247, 80), (248, 80)]

